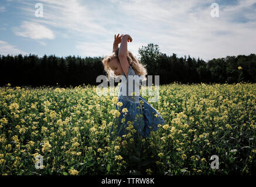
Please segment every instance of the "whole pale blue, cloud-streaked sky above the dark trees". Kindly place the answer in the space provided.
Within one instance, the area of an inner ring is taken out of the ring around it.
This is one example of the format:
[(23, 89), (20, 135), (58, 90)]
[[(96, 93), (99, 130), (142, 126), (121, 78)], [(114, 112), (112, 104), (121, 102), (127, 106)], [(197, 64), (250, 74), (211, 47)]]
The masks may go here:
[(103, 57), (118, 33), (136, 57), (149, 43), (204, 61), (256, 53), (256, 0), (1, 0), (0, 18), (5, 56)]

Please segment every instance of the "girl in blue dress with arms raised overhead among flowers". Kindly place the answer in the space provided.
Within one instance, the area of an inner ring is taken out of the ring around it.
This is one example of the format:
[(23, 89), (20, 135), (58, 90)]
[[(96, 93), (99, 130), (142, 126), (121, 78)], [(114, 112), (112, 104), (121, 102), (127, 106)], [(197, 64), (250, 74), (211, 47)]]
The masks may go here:
[[(120, 116), (116, 119), (117, 123), (113, 119), (110, 130), (111, 140), (115, 136), (119, 136), (124, 140), (127, 130), (132, 131), (131, 127), (136, 130), (134, 132), (137, 135), (145, 138), (150, 135), (151, 131), (158, 130), (158, 124), (165, 123), (165, 120), (142, 96), (139, 94), (134, 95), (135, 85), (137, 88), (141, 88), (141, 81), (145, 80), (147, 72), (145, 66), (127, 50), (127, 42), (131, 41), (132, 38), (128, 34), (115, 35), (113, 53), (103, 59), (104, 70), (108, 74), (108, 79), (110, 79), (113, 72), (114, 77), (122, 75), (118, 102), (115, 106), (115, 109), (120, 112)], [(118, 49), (119, 43), (121, 44)], [(132, 79), (132, 87), (128, 84), (131, 81), (128, 76), (137, 77), (135, 81)]]

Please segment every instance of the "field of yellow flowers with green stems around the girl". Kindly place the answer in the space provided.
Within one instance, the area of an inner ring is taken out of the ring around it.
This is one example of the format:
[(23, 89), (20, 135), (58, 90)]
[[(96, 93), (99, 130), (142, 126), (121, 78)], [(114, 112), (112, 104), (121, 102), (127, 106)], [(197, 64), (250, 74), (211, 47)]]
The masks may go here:
[(0, 174), (256, 174), (255, 101), (256, 84), (161, 85), (150, 104), (166, 123), (145, 139), (134, 139), (130, 124), (120, 143), (109, 136), (117, 96), (90, 85), (8, 84), (0, 88)]

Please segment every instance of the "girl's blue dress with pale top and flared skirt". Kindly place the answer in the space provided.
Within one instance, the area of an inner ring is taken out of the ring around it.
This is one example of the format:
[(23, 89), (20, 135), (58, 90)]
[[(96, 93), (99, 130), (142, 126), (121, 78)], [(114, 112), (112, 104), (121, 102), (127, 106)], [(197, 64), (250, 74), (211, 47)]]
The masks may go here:
[[(142, 76), (136, 75), (131, 65), (129, 66), (128, 78), (126, 78), (124, 73), (122, 75), (122, 82), (119, 87), (120, 92), (118, 95), (118, 102), (122, 102), (122, 106), (115, 105), (115, 109), (120, 112), (120, 116), (113, 119), (113, 124), (110, 130), (111, 140), (114, 136), (119, 136), (123, 140), (124, 138), (122, 136), (127, 134), (126, 127), (131, 123), (137, 133), (144, 138), (148, 137), (151, 131), (158, 130), (158, 124), (164, 124), (165, 120), (159, 115), (155, 108), (146, 102), (146, 100), (139, 94), (142, 85)], [(133, 79), (132, 77), (134, 75), (135, 77)], [(134, 96), (132, 92), (135, 92), (136, 95)], [(124, 116), (125, 113), (122, 112), (122, 109), (124, 108), (127, 108), (128, 110), (126, 116)], [(125, 121), (123, 118), (125, 118)], [(116, 129), (114, 131), (115, 134), (112, 134), (114, 127)]]

